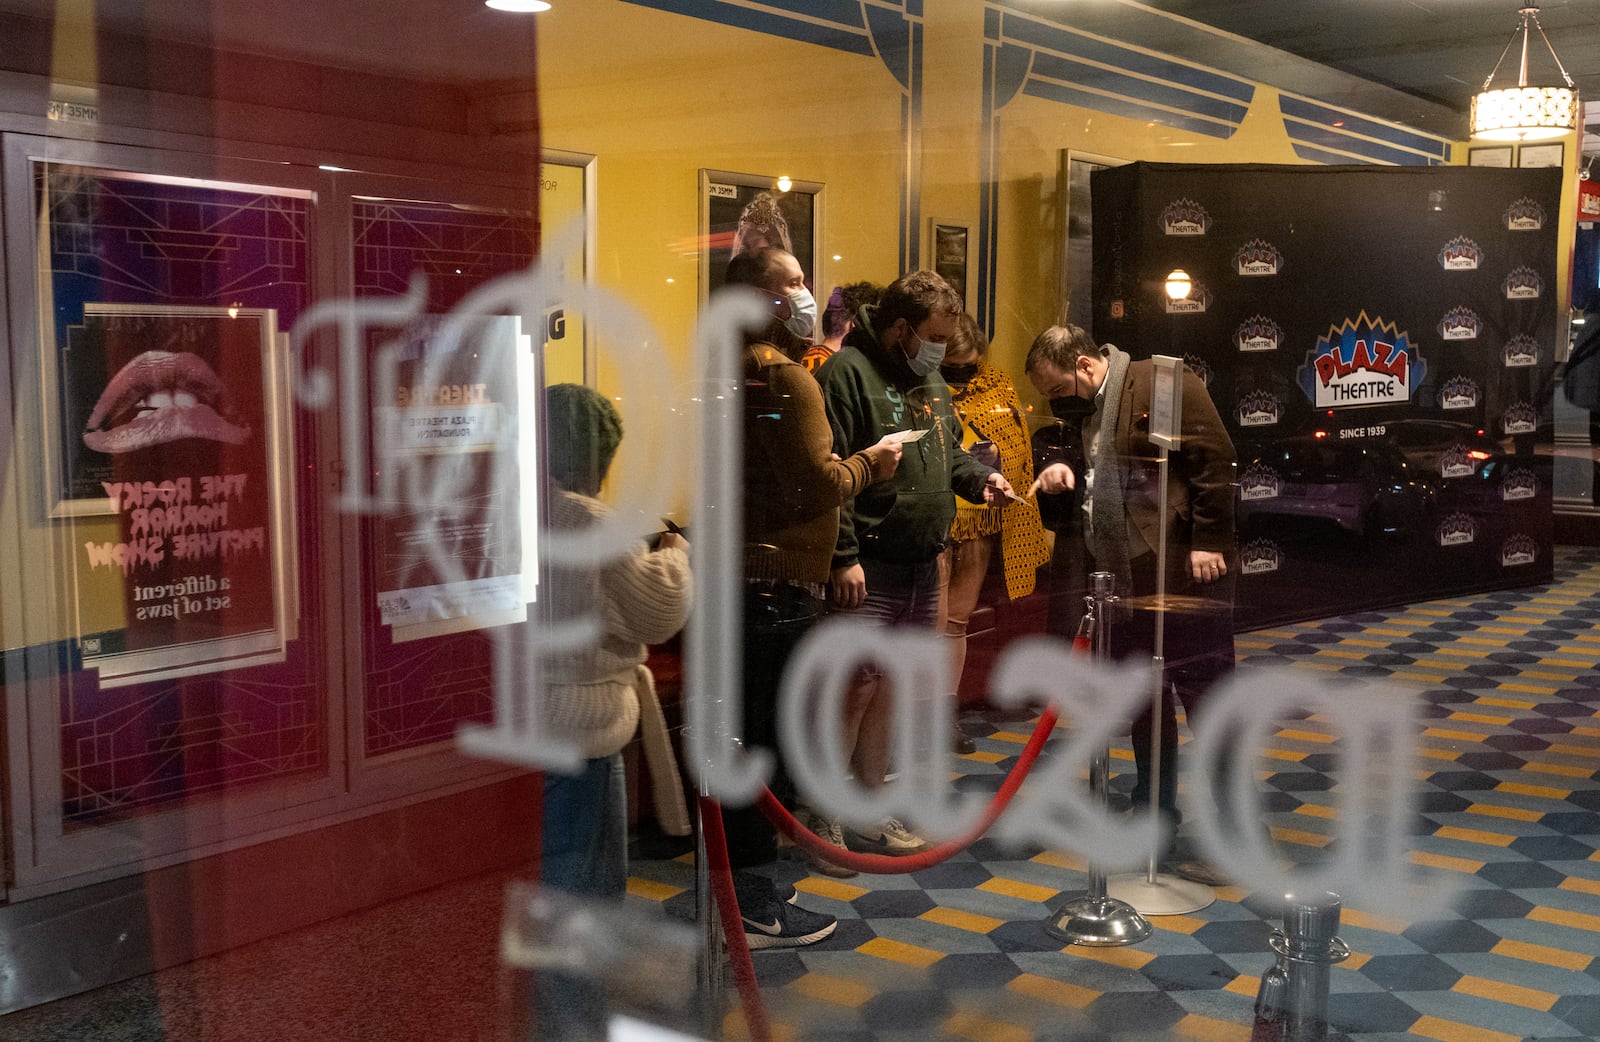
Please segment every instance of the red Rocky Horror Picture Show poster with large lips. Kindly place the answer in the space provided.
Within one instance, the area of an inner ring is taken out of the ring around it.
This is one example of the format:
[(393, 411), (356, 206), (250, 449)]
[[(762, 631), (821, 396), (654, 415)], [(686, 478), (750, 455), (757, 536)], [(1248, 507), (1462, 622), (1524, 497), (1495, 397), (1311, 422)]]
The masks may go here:
[(67, 330), (59, 490), (75, 504), (83, 664), (102, 687), (283, 656), (278, 362), (266, 309), (86, 304)]

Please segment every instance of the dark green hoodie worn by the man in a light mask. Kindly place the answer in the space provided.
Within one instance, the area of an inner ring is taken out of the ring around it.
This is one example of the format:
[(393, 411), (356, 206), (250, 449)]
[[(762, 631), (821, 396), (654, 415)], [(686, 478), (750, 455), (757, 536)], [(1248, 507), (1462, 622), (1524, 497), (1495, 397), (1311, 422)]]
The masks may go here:
[(816, 373), (834, 427), (834, 453), (848, 459), (891, 431), (928, 431), (907, 442), (894, 477), (862, 488), (838, 515), (834, 567), (861, 557), (928, 562), (950, 538), (955, 491), (982, 503), (994, 471), (962, 448), (962, 421), (950, 389), (934, 370), (917, 376), (898, 351), (878, 343), (872, 307), (862, 307), (845, 347)]

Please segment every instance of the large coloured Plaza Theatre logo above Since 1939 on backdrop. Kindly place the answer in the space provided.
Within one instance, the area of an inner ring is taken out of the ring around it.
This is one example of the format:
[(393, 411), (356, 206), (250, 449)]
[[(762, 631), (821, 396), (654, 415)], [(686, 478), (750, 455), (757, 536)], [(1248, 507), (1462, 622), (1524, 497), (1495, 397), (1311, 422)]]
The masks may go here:
[(1395, 323), (1368, 319), (1330, 327), (1299, 368), (1301, 391), (1317, 408), (1410, 402), (1427, 363)]

